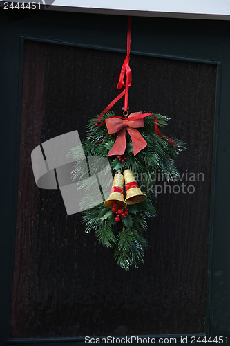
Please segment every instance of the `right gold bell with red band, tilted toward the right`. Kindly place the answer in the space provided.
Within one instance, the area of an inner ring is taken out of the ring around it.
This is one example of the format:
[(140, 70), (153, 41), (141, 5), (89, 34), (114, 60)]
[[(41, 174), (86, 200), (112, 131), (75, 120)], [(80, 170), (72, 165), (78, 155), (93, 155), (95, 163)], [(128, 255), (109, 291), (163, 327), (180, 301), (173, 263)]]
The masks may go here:
[(131, 170), (124, 170), (124, 181), (126, 183), (126, 203), (140, 203), (146, 199), (146, 194), (142, 193)]

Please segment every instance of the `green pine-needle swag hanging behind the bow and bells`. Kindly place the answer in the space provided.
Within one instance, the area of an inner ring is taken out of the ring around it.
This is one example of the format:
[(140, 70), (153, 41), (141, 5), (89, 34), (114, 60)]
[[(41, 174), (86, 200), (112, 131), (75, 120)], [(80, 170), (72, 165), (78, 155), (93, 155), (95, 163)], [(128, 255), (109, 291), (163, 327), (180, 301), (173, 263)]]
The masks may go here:
[[(104, 115), (104, 119), (114, 116), (113, 112)], [(155, 114), (158, 127), (166, 125), (169, 118)], [(85, 156), (107, 157), (108, 152), (115, 143), (116, 134), (109, 135), (106, 125), (95, 126), (97, 116), (88, 122), (86, 140), (82, 142)], [(86, 233), (95, 231), (97, 241), (108, 248), (114, 248), (114, 257), (117, 264), (128, 270), (131, 265), (138, 267), (144, 260), (144, 251), (148, 248), (148, 242), (143, 233), (148, 228), (148, 217), (155, 217), (154, 185), (155, 179), (151, 172), (160, 172), (166, 181), (175, 181), (178, 178), (178, 170), (174, 165), (175, 157), (182, 152), (184, 142), (177, 138), (172, 140), (177, 144), (172, 145), (164, 136), (155, 133), (155, 119), (153, 116), (144, 118), (144, 127), (139, 128), (140, 134), (147, 142), (147, 146), (136, 156), (133, 156), (133, 145), (126, 131), (126, 161), (122, 163), (116, 156), (108, 156), (113, 176), (117, 170), (129, 168), (133, 171), (142, 192), (147, 198), (137, 204), (128, 205), (128, 215), (119, 223), (115, 221), (115, 212), (104, 205), (104, 203), (82, 212)], [(78, 148), (71, 150), (70, 155), (76, 160)], [(79, 168), (76, 165), (73, 170), (73, 180), (79, 176)], [(145, 189), (143, 187), (146, 187)], [(90, 187), (89, 187), (90, 188)]]

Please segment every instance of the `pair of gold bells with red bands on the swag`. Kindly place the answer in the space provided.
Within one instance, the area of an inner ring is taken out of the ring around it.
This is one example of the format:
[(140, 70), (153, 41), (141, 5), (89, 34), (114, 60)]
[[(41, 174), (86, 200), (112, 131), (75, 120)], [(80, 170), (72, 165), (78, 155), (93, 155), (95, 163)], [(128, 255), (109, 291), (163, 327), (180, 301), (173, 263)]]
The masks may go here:
[[(126, 199), (124, 200), (124, 182), (126, 185)], [(127, 204), (140, 203), (146, 199), (146, 194), (142, 193), (131, 170), (124, 170), (115, 174), (111, 194), (104, 202), (109, 208), (117, 202), (119, 207), (126, 208)]]

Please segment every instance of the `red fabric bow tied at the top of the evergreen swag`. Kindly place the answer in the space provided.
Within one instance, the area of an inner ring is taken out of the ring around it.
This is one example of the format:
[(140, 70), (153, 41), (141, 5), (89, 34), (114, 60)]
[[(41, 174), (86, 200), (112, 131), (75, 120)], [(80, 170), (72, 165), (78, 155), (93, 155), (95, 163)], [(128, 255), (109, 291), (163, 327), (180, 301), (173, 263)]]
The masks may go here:
[(125, 120), (117, 117), (106, 119), (108, 134), (117, 134), (115, 143), (108, 153), (108, 156), (124, 154), (126, 149), (126, 130), (131, 136), (134, 156), (146, 147), (146, 140), (144, 140), (137, 128), (144, 127), (143, 118), (147, 116), (147, 114), (150, 115), (151, 113), (142, 114), (142, 111), (138, 111), (136, 113), (131, 113)]

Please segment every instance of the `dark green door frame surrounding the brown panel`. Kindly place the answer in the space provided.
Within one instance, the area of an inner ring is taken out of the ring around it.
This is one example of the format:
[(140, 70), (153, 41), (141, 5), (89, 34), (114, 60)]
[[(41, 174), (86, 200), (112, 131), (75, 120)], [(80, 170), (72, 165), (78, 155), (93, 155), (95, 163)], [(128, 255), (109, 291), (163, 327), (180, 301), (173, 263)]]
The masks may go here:
[[(19, 166), (21, 80), (23, 41), (26, 37), (46, 42), (126, 52), (126, 17), (86, 15), (67, 12), (24, 11), (6, 13), (0, 8), (1, 37), (1, 181), (2, 228), (0, 233), (2, 299), (1, 345), (80, 345), (77, 339), (9, 340), (14, 239)], [(7, 17), (8, 15), (8, 17)], [(230, 221), (228, 197), (230, 184), (230, 23), (194, 19), (133, 18), (132, 52), (217, 64), (213, 170), (209, 233), (209, 268), (205, 334), (230, 337)], [(101, 33), (101, 35), (100, 35)], [(103, 35), (102, 35), (103, 33)], [(145, 37), (145, 39), (142, 39)], [(4, 166), (6, 165), (6, 169)], [(191, 337), (191, 335), (187, 334)], [(169, 335), (155, 336), (169, 338)], [(172, 336), (173, 337), (173, 336)], [(175, 336), (174, 336), (175, 337)], [(178, 343), (180, 343), (180, 335)], [(189, 338), (191, 343), (191, 338)], [(230, 340), (230, 338), (229, 338)]]

